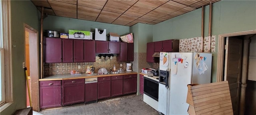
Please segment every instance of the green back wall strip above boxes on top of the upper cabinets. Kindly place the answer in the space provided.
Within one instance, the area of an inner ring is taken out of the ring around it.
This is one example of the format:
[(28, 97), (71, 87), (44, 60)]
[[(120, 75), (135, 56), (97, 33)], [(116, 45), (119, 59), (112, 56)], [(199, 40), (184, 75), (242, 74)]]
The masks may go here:
[(60, 32), (68, 32), (68, 30), (72, 29), (95, 32), (95, 28), (100, 30), (106, 29), (107, 35), (109, 32), (117, 33), (120, 36), (130, 33), (130, 26), (107, 24), (59, 16), (49, 15), (48, 17), (44, 18), (43, 22), (43, 30), (56, 30)]

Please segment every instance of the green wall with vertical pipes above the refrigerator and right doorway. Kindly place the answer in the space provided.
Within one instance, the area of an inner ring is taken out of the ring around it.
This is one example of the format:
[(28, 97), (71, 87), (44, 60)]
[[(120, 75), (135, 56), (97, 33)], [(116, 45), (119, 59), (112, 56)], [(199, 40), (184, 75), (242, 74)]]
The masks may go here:
[[(155, 24), (153, 41), (200, 37), (201, 12), (200, 8)], [(204, 12), (204, 36), (208, 36), (209, 6)], [(256, 30), (256, 1), (224, 0), (212, 5), (212, 35), (216, 36), (216, 52), (212, 52), (212, 82), (216, 82), (218, 35), (248, 30)]]

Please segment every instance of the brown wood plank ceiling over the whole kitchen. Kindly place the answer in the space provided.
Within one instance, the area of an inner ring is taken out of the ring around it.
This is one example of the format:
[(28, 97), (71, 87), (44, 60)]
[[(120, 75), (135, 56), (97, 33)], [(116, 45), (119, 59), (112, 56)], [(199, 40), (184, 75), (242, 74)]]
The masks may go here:
[(157, 24), (220, 0), (32, 0), (54, 16), (132, 26)]

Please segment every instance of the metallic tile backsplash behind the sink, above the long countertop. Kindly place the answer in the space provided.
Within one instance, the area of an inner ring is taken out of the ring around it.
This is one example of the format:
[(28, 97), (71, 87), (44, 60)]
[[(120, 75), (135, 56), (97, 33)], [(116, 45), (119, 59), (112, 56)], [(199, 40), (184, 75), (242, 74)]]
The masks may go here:
[[(116, 69), (120, 68), (120, 63), (122, 63), (122, 69), (126, 70), (126, 63), (129, 61), (118, 61), (117, 57), (114, 56), (113, 59), (102, 60), (100, 57), (96, 56), (95, 62), (79, 62), (79, 63), (44, 63), (44, 75), (56, 75), (56, 74), (66, 74), (70, 73), (71, 70), (80, 71), (82, 73), (86, 72), (87, 65), (92, 65), (95, 67), (95, 72), (102, 67), (106, 68), (108, 71), (111, 68), (113, 70), (114, 64)], [(78, 69), (78, 65), (81, 69)]]

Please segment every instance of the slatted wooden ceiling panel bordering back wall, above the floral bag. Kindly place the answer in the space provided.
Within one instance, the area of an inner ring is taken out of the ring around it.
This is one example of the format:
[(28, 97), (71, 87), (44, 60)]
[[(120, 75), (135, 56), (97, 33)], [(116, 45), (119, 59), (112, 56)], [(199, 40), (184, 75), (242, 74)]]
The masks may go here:
[(128, 16), (128, 15), (123, 14), (119, 18), (117, 18), (114, 22), (112, 22), (112, 24), (126, 25), (136, 19), (137, 19), (137, 17)]

